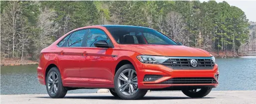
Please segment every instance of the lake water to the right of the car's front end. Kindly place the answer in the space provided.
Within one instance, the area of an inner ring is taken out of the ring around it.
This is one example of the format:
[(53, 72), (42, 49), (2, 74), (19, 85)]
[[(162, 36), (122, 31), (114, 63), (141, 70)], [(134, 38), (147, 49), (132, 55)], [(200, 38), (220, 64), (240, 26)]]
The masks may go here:
[(216, 59), (219, 87), (214, 90), (256, 90), (256, 56)]

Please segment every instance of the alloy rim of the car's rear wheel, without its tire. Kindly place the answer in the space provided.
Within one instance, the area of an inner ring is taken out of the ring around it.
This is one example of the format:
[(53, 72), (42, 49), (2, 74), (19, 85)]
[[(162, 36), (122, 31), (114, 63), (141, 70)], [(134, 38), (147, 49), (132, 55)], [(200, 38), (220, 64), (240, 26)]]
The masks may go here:
[(48, 91), (50, 92), (50, 94), (55, 94), (57, 92), (58, 82), (59, 82), (59, 78), (57, 73), (51, 72), (47, 80)]

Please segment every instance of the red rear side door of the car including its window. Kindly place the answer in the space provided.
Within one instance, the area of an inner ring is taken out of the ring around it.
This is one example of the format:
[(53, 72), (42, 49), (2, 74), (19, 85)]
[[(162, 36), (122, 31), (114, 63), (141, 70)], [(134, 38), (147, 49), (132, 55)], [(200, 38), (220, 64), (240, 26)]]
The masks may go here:
[(74, 31), (58, 44), (60, 47), (58, 65), (62, 69), (64, 83), (81, 83), (80, 61), (85, 59), (83, 56), (85, 49), (81, 46), (85, 44), (84, 37), (88, 31), (88, 29)]

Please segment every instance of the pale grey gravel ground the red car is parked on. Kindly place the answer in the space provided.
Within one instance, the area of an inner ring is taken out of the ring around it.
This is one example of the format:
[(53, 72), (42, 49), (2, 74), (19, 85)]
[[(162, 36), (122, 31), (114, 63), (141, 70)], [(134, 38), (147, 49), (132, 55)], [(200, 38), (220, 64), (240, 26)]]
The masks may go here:
[(64, 99), (48, 95), (1, 95), (1, 104), (256, 104), (256, 91), (212, 91), (199, 99), (182, 92), (148, 92), (141, 100), (125, 101), (110, 93), (67, 94)]

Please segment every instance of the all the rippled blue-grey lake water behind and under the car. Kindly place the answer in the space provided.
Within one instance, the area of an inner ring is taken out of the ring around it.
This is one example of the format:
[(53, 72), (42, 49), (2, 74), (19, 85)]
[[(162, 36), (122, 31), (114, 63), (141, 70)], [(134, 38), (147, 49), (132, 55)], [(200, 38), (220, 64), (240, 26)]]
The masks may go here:
[[(220, 85), (213, 90), (256, 90), (256, 56), (217, 58)], [(47, 94), (37, 81), (37, 65), (1, 66), (0, 94)], [(94, 90), (73, 90), (68, 93), (95, 93)]]

